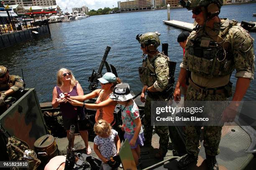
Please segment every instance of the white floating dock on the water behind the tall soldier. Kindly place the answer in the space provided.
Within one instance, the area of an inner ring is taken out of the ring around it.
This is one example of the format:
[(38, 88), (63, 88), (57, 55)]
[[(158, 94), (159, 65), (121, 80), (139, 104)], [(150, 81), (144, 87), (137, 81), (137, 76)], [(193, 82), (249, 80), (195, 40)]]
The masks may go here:
[[(192, 24), (192, 23), (186, 23), (186, 22), (177, 21), (177, 20), (169, 20), (169, 21), (163, 20), (163, 22), (165, 24), (167, 24), (167, 25), (171, 25), (173, 27), (181, 28), (181, 29), (187, 30), (189, 32), (192, 32), (193, 28), (195, 27), (195, 25)], [(256, 22), (251, 22), (251, 23), (255, 23), (256, 24)], [(238, 23), (238, 24), (241, 25), (241, 23)], [(250, 31), (256, 31), (256, 26), (251, 28)]]

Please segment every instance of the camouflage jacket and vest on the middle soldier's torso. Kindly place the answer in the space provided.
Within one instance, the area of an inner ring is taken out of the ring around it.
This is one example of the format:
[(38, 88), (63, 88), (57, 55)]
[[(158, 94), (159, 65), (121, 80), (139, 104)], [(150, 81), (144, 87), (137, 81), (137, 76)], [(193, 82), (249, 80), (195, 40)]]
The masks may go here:
[[(147, 60), (154, 67), (155, 72), (150, 69)], [(146, 60), (143, 60), (142, 67), (139, 68), (139, 75), (143, 85), (148, 87), (154, 85), (156, 90), (163, 91), (168, 85), (169, 78), (167, 57), (162, 53), (155, 57), (147, 57)]]

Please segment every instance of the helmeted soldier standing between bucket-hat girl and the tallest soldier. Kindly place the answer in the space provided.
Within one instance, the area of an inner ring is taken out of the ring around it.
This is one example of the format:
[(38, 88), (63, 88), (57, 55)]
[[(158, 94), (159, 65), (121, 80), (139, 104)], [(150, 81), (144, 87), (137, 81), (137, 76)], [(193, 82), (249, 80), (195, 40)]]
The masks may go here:
[[(144, 117), (144, 137), (145, 142), (151, 144), (153, 127), (151, 126), (151, 101), (165, 101), (167, 96), (162, 91), (168, 85), (169, 77), (169, 58), (160, 53), (157, 47), (160, 45), (158, 32), (147, 32), (143, 35), (137, 35), (136, 39), (141, 43), (143, 55), (147, 54), (146, 59), (143, 59), (142, 67), (139, 67), (139, 75), (143, 83), (141, 92), (141, 101), (145, 102), (145, 117)], [(144, 98), (147, 92), (146, 99)], [(168, 127), (155, 126), (157, 135), (159, 135), (159, 152), (156, 153), (156, 158), (163, 158), (167, 153), (169, 142)]]

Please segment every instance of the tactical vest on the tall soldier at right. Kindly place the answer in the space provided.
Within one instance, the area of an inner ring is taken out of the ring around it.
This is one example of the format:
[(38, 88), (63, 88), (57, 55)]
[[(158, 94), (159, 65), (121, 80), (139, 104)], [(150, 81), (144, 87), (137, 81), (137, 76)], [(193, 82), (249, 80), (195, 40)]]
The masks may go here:
[[(225, 35), (228, 30), (236, 25), (234, 21), (229, 22), (229, 27), (219, 32), (219, 37), (224, 37), (224, 41), (226, 41)], [(194, 36), (191, 36), (189, 47), (186, 49), (188, 51), (187, 66), (189, 71), (209, 78), (230, 75), (235, 69), (231, 45), (225, 49), (209, 35), (201, 29)]]

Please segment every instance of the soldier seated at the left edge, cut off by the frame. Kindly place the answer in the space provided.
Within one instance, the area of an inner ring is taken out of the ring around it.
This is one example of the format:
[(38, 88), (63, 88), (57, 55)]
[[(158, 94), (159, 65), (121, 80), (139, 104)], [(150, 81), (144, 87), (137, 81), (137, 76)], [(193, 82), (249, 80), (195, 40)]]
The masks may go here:
[[(9, 71), (3, 65), (0, 65), (0, 107), (5, 106), (5, 98), (18, 90), (22, 90), (23, 80), (18, 75), (9, 75)], [(3, 92), (5, 91), (5, 92)]]

